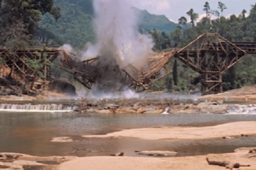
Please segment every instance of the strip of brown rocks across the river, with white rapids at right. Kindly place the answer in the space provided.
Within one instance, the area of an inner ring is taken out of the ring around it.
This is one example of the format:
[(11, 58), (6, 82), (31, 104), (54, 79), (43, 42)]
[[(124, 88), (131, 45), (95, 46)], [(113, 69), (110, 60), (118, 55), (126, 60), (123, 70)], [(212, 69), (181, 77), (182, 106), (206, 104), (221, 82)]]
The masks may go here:
[(253, 113), (254, 104), (230, 104), (223, 101), (205, 101), (201, 103), (134, 102), (120, 103), (80, 103), (82, 113), (143, 113), (143, 114), (225, 114)]

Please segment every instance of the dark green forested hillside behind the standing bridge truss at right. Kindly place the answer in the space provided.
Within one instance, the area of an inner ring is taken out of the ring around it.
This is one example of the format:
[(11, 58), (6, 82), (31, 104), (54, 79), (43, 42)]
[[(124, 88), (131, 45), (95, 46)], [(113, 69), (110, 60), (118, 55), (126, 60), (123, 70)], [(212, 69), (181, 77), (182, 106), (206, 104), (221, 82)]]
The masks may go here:
[[(225, 12), (225, 4), (218, 2), (218, 10), (211, 9), (210, 4), (202, 4), (202, 8), (206, 11), (206, 16), (196, 23), (198, 13), (191, 9), (184, 16), (178, 20), (178, 27), (171, 32), (171, 34), (161, 33), (158, 30), (150, 32), (154, 38), (154, 50), (165, 50), (169, 47), (184, 47), (189, 42), (195, 40), (203, 33), (218, 33), (230, 41), (236, 42), (256, 42), (256, 4), (251, 6), (250, 11), (241, 9), (239, 16), (231, 15), (229, 18), (223, 17)], [(250, 4), (248, 4), (250, 6)], [(246, 14), (248, 16), (246, 17)], [(187, 20), (188, 16), (189, 20)], [(212, 18), (216, 19), (212, 19)], [(231, 67), (223, 75), (223, 90), (237, 89), (242, 86), (256, 84), (256, 56), (247, 55), (242, 61)], [(172, 62), (169, 67), (174, 66)], [(178, 72), (169, 75), (165, 79), (156, 82), (151, 86), (151, 90), (175, 90), (175, 91), (189, 91), (200, 87), (199, 74), (193, 72), (192, 69), (186, 65), (178, 62), (174, 67)], [(174, 79), (178, 79), (175, 82)], [(190, 83), (193, 83), (190, 84)], [(177, 85), (175, 85), (177, 84)]]

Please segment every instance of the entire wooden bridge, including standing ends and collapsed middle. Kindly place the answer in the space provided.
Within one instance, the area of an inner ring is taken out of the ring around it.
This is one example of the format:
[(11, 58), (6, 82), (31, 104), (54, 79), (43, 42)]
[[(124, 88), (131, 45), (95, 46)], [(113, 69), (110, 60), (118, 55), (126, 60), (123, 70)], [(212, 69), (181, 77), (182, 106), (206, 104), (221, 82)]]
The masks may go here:
[[(100, 70), (107, 72), (111, 69), (114, 74), (122, 75), (122, 83), (137, 92), (145, 91), (150, 84), (170, 74), (171, 69), (164, 68), (171, 58), (176, 57), (201, 74), (201, 94), (206, 95), (223, 91), (222, 74), (246, 55), (256, 54), (256, 42), (230, 42), (216, 33), (206, 33), (182, 49), (152, 55), (140, 69), (136, 69), (131, 64), (122, 69), (110, 68), (108, 64), (100, 62), (100, 57), (81, 61), (75, 55), (60, 49), (43, 50), (33, 47), (16, 52), (0, 49), (0, 57), (4, 57), (7, 66), (15, 67), (16, 71), (23, 75), (35, 72), (23, 61), (23, 57), (35, 60), (43, 53), (50, 62), (61, 56), (60, 68), (73, 74), (74, 79), (87, 89), (92, 89), (100, 77)], [(11, 57), (11, 54), (14, 56)], [(50, 77), (50, 67), (42, 67), (42, 72)]]

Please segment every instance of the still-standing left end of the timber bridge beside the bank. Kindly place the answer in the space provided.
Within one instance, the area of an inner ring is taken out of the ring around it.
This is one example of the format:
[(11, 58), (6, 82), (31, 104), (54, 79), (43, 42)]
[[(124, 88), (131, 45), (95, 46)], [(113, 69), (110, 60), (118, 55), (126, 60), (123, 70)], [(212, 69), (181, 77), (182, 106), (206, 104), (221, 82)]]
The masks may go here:
[[(0, 58), (4, 59), (4, 66), (15, 72), (15, 74), (21, 79), (24, 80), (32, 78), (35, 76), (36, 71), (29, 67), (24, 59), (28, 60), (39, 60), (46, 55), (46, 58), (53, 62), (59, 55), (60, 50), (55, 48), (48, 47), (26, 47), (26, 49), (12, 50), (6, 47), (0, 49)], [(50, 80), (50, 65), (42, 65), (40, 72), (44, 74), (45, 79), (40, 77), (34, 77), (37, 82), (41, 84), (46, 84), (46, 80)]]

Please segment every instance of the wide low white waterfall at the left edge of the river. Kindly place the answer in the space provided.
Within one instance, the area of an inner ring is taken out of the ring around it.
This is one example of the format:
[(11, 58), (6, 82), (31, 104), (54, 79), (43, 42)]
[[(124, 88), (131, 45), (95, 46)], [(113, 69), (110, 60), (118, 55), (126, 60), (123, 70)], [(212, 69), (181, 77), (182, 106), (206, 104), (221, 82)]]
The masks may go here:
[(62, 104), (0, 104), (0, 111), (26, 111), (26, 112), (67, 112), (74, 111), (78, 106)]

